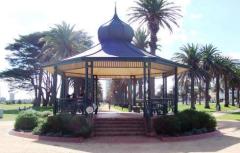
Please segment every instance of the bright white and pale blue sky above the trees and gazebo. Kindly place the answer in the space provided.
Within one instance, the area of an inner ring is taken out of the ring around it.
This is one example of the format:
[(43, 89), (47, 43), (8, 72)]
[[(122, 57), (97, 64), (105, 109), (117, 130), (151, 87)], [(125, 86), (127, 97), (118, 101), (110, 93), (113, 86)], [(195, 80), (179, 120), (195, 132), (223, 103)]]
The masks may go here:
[[(46, 31), (65, 21), (84, 30), (98, 43), (99, 26), (110, 20), (117, 3), (118, 16), (128, 22), (129, 7), (136, 0), (7, 0), (0, 2), (0, 71), (8, 69), (5, 47), (19, 35)], [(187, 43), (213, 44), (223, 55), (240, 59), (239, 0), (172, 0), (182, 9), (180, 27), (173, 33), (160, 29), (161, 51), (157, 54), (171, 59)], [(138, 24), (131, 24), (134, 29)], [(32, 98), (32, 93), (16, 90), (16, 99)], [(8, 84), (0, 81), (0, 97), (8, 98)]]

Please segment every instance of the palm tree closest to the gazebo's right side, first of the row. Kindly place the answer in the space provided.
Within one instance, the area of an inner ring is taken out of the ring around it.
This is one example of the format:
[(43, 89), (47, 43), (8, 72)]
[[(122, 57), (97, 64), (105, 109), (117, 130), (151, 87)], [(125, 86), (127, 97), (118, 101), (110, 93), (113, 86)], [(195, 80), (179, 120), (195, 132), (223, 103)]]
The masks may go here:
[[(204, 78), (204, 70), (200, 67), (200, 60), (202, 57), (198, 45), (187, 44), (180, 48), (182, 52), (175, 53), (174, 59), (180, 63), (190, 65), (189, 71), (180, 75), (181, 80), (191, 80), (191, 108), (195, 109), (196, 96), (194, 92), (195, 81)], [(184, 81), (183, 81), (184, 82)]]

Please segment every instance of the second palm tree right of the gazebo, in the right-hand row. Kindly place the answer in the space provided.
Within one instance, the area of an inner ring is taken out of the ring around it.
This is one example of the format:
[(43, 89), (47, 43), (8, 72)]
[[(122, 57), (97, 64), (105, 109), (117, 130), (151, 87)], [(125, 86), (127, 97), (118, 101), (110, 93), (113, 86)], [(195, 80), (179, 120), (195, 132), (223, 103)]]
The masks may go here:
[(206, 71), (205, 77), (205, 108), (210, 108), (209, 101), (209, 87), (210, 81), (213, 78), (214, 74), (217, 73), (216, 64), (214, 63), (214, 58), (219, 55), (219, 51), (212, 44), (207, 44), (201, 47), (202, 52), (202, 67)]

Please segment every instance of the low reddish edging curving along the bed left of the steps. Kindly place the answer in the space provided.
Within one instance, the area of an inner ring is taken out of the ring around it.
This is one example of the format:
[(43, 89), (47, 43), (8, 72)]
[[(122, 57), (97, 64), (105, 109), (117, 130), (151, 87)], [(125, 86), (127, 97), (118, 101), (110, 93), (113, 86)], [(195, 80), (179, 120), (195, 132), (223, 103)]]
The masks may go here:
[(9, 131), (10, 135), (23, 137), (23, 138), (29, 138), (34, 140), (44, 140), (44, 141), (55, 141), (55, 142), (74, 142), (74, 143), (80, 143), (83, 142), (84, 138), (82, 137), (76, 137), (76, 138), (67, 138), (67, 137), (50, 137), (50, 136), (40, 136), (40, 135), (33, 135), (31, 132), (18, 132), (11, 130)]

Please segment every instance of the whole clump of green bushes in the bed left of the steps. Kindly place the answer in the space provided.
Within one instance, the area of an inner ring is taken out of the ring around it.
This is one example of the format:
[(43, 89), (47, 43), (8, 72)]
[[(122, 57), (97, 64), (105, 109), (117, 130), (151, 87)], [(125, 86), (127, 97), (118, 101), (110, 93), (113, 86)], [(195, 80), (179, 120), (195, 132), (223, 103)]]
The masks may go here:
[(89, 137), (92, 125), (85, 116), (37, 112), (33, 110), (21, 112), (14, 125), (17, 131), (31, 131), (36, 135), (59, 137)]

